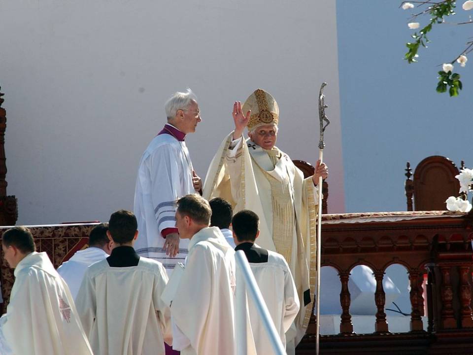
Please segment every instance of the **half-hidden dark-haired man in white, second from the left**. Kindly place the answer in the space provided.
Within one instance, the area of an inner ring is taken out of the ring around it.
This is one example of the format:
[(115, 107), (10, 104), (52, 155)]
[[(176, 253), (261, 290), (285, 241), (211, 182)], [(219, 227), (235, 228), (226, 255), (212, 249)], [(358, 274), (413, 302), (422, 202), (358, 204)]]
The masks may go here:
[(85, 270), (97, 261), (105, 259), (112, 251), (113, 242), (107, 237), (108, 223), (92, 228), (89, 235), (89, 248), (78, 250), (71, 258), (58, 267), (58, 273), (69, 286), (74, 300), (79, 291)]

